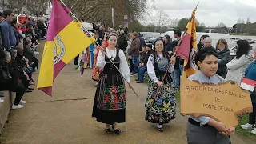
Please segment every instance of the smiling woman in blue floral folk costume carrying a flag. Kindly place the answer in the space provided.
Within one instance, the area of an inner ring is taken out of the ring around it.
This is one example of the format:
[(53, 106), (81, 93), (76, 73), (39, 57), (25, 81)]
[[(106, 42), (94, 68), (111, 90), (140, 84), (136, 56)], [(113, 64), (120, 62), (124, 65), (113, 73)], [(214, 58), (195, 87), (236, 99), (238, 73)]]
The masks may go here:
[[(157, 39), (154, 42), (154, 54), (150, 54), (147, 66), (147, 73), (150, 76), (150, 84), (148, 95), (146, 98), (146, 120), (151, 123), (157, 123), (157, 129), (163, 131), (162, 125), (168, 123), (175, 118), (176, 102), (174, 99), (174, 88), (171, 72), (174, 71), (174, 66), (169, 66), (170, 56), (165, 53), (164, 42), (162, 39)], [(163, 82), (162, 78), (168, 69), (166, 78)], [(158, 91), (158, 87), (160, 90)], [(154, 99), (154, 97), (156, 98)]]

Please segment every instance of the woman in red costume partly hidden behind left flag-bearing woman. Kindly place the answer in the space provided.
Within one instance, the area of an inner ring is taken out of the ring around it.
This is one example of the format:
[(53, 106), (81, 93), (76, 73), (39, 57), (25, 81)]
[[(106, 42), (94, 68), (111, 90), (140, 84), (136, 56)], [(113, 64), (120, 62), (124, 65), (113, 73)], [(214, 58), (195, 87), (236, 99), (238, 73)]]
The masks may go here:
[[(106, 49), (106, 47), (108, 47), (109, 44), (106, 40), (103, 40), (102, 42), (102, 48)], [(97, 65), (97, 57), (98, 57), (98, 53), (100, 52), (100, 50), (98, 48), (94, 49), (94, 69), (93, 69), (93, 75), (92, 75), (92, 79), (94, 81), (96, 81), (96, 85), (98, 86), (98, 81), (99, 81), (99, 74), (102, 72), (102, 69)]]

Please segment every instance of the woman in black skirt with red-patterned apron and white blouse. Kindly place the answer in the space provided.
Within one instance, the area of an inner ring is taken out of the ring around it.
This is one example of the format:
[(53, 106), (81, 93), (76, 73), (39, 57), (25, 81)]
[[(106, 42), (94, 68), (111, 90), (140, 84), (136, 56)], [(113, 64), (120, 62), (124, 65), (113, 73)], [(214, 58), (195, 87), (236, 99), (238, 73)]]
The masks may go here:
[(108, 58), (102, 52), (98, 53), (97, 66), (103, 71), (94, 97), (92, 117), (106, 124), (106, 134), (110, 134), (110, 126), (115, 134), (121, 134), (118, 123), (126, 122), (126, 86), (122, 76), (130, 82), (130, 70), (124, 52), (115, 47), (117, 34), (110, 33), (108, 38), (109, 46), (103, 49)]

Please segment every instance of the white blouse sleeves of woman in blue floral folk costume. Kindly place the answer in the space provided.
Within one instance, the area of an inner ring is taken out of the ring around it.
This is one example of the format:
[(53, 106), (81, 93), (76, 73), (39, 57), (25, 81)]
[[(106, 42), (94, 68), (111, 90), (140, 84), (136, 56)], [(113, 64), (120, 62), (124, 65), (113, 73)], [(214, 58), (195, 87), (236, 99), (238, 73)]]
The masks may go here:
[[(160, 58), (163, 57), (162, 54), (159, 54), (158, 56)], [(147, 67), (147, 74), (149, 74), (149, 77), (151, 78), (151, 80), (154, 82), (158, 82), (159, 80), (154, 72), (154, 55), (153, 54), (150, 54), (150, 57), (146, 63), (146, 67)], [(174, 65), (171, 65), (168, 72), (171, 73), (173, 71), (174, 71)]]

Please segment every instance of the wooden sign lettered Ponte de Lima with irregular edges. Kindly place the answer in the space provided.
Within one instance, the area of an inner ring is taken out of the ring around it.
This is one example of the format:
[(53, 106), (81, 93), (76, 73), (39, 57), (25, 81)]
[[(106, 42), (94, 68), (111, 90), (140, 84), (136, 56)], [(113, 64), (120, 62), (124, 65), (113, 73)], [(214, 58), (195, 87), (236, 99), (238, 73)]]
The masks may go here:
[(219, 85), (192, 82), (182, 77), (181, 114), (208, 116), (223, 122), (228, 128), (238, 125), (238, 116), (252, 112), (250, 93), (237, 83)]

